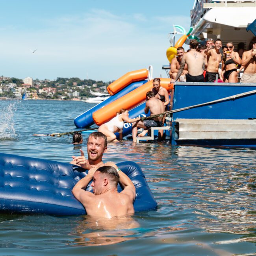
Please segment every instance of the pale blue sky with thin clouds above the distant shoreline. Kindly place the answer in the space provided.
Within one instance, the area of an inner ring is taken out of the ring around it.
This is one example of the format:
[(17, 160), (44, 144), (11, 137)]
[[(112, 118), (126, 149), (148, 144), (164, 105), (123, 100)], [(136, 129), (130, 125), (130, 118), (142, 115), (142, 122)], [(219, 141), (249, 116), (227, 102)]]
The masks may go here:
[(54, 80), (88, 74), (107, 82), (152, 65), (154, 77), (167, 77), (161, 66), (168, 64), (168, 33), (173, 24), (189, 30), (193, 3), (1, 1), (0, 76)]

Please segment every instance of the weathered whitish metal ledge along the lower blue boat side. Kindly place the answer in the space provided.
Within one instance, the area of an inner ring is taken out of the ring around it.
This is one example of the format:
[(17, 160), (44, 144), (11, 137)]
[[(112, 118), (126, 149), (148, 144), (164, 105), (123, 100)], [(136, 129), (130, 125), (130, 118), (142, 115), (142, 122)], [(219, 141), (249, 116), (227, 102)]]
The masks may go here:
[(182, 140), (256, 140), (256, 119), (176, 119), (173, 138)]

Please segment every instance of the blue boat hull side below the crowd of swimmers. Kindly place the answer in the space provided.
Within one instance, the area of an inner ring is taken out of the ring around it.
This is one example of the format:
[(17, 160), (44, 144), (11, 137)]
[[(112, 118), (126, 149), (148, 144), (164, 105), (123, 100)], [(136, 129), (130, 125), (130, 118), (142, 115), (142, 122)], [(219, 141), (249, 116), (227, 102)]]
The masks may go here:
[[(176, 83), (174, 86), (173, 109), (185, 108), (221, 98), (256, 90), (255, 83)], [(218, 139), (179, 139), (176, 120), (189, 119), (225, 119), (229, 120), (256, 119), (256, 94), (224, 100), (207, 106), (200, 106), (173, 113), (172, 144), (173, 145), (214, 145), (232, 147), (255, 147), (255, 137)], [(199, 131), (200, 132), (200, 131)], [(245, 131), (246, 132), (246, 131)]]

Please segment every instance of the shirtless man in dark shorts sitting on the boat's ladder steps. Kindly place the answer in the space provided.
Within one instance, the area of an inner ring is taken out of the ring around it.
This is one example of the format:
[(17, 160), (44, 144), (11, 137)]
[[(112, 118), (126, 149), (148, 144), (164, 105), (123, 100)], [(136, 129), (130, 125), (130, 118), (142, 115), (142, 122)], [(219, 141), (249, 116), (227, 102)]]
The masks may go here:
[[(150, 111), (151, 115), (158, 115), (165, 111), (163, 102), (156, 98), (152, 91), (147, 92), (146, 99), (146, 107), (144, 109), (146, 114)], [(163, 126), (163, 117), (154, 117), (149, 120), (134, 122), (132, 124), (132, 140), (136, 142), (138, 128), (148, 129), (150, 127), (158, 126)], [(158, 134), (159, 140), (161, 139), (160, 136), (161, 134)]]

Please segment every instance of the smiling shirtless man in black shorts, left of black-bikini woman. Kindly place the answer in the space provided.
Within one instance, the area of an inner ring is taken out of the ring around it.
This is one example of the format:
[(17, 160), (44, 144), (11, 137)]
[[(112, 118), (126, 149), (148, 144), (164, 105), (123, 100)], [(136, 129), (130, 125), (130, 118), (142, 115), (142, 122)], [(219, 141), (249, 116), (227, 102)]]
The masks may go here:
[(205, 74), (206, 82), (214, 82), (216, 80), (216, 75), (219, 78), (219, 63), (221, 62), (221, 52), (222, 47), (221, 39), (215, 41), (215, 47), (212, 49), (211, 45), (207, 46), (205, 54), (208, 57), (208, 66)]

